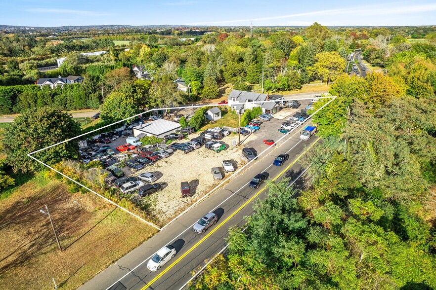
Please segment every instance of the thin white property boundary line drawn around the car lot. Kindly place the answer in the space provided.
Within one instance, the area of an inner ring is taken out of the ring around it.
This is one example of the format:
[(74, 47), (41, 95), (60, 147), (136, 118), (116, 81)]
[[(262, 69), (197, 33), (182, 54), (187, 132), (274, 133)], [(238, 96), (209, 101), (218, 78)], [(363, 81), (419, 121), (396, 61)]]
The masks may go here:
[[(323, 109), (325, 106), (327, 106), (327, 105), (330, 104), (332, 101), (334, 101), (337, 97), (336, 97), (336, 96), (330, 96), (330, 97), (317, 97), (316, 99), (324, 99), (324, 98), (332, 98), (332, 100), (330, 100), (329, 102), (327, 102), (326, 104), (324, 104), (321, 108), (319, 108), (319, 109), (317, 109), (315, 112), (313, 112), (310, 116), (308, 116), (308, 117), (304, 120), (304, 122), (305, 122), (306, 120), (310, 119), (310, 118), (311, 118), (314, 114), (316, 114), (319, 110)], [(292, 101), (307, 100), (307, 99), (314, 99), (314, 98), (300, 98), (300, 99), (293, 99)], [(257, 102), (251, 102), (251, 104), (277, 103), (277, 102), (283, 102), (283, 101), (288, 101), (288, 100), (257, 101)], [(245, 104), (245, 103), (243, 103), (243, 104)], [(123, 207), (121, 207), (120, 205), (116, 204), (115, 202), (113, 202), (113, 201), (111, 201), (111, 200), (105, 198), (104, 196), (98, 194), (97, 192), (91, 190), (90, 188), (88, 188), (87, 186), (83, 185), (82, 183), (80, 183), (80, 182), (78, 182), (78, 181), (75, 181), (75, 180), (73, 180), (72, 178), (66, 176), (65, 174), (63, 174), (63, 173), (57, 171), (56, 169), (50, 167), (49, 165), (47, 165), (47, 164), (45, 164), (44, 162), (42, 162), (41, 160), (39, 160), (39, 159), (33, 157), (32, 155), (35, 154), (35, 153), (41, 152), (41, 151), (43, 151), (43, 150), (45, 150), (45, 149), (48, 149), (48, 148), (54, 147), (54, 146), (56, 146), (56, 145), (60, 145), (60, 144), (63, 144), (63, 143), (66, 143), (66, 142), (72, 141), (72, 140), (74, 140), (74, 139), (80, 138), (80, 137), (82, 137), (82, 136), (89, 135), (89, 134), (91, 134), (91, 133), (93, 133), (93, 132), (96, 132), (96, 131), (99, 131), (99, 130), (101, 130), (101, 129), (104, 129), (104, 128), (110, 127), (110, 126), (112, 126), (112, 125), (115, 125), (115, 124), (118, 124), (118, 123), (121, 123), (121, 122), (127, 121), (127, 120), (129, 120), (129, 119), (131, 119), (131, 118), (134, 118), (134, 117), (140, 116), (140, 115), (145, 114), (145, 113), (148, 113), (148, 112), (150, 112), (150, 111), (156, 111), (156, 110), (168, 110), (168, 109), (203, 108), (203, 107), (213, 107), (213, 106), (215, 106), (215, 107), (223, 107), (223, 106), (227, 107), (228, 104), (222, 104), (222, 105), (218, 105), (218, 104), (208, 104), (208, 105), (199, 105), (199, 106), (183, 106), (183, 107), (173, 107), (173, 108), (156, 108), (156, 109), (149, 109), (149, 110), (147, 110), (147, 111), (144, 111), (144, 112), (138, 113), (138, 114), (136, 114), (136, 115), (133, 115), (133, 116), (128, 117), (128, 118), (125, 118), (125, 119), (123, 119), (123, 120), (120, 120), (120, 121), (114, 122), (114, 123), (112, 123), (112, 124), (109, 124), (109, 125), (103, 126), (103, 127), (101, 127), (101, 128), (98, 128), (98, 129), (95, 129), (95, 130), (89, 131), (89, 132), (87, 132), (87, 133), (84, 133), (84, 134), (78, 135), (78, 136), (76, 136), (76, 137), (70, 138), (70, 139), (68, 139), (68, 140), (65, 140), (65, 141), (62, 141), (62, 142), (58, 142), (58, 143), (56, 143), (56, 144), (46, 146), (46, 147), (44, 147), (44, 148), (42, 148), (42, 149), (39, 149), (39, 150), (36, 150), (36, 151), (30, 152), (30, 153), (27, 154), (27, 156), (29, 156), (30, 158), (32, 158), (32, 159), (36, 160), (37, 162), (43, 164), (44, 166), (46, 166), (47, 168), (49, 168), (49, 169), (53, 170), (54, 172), (60, 174), (61, 176), (67, 178), (68, 180), (73, 181), (74, 183), (76, 183), (76, 184), (78, 184), (78, 185), (84, 187), (85, 189), (87, 189), (87, 190), (89, 190), (90, 192), (94, 193), (95, 195), (97, 195), (97, 196), (103, 198), (104, 200), (106, 200), (106, 201), (108, 201), (109, 203), (115, 205), (116, 207), (122, 209), (123, 211), (125, 211), (125, 212), (131, 214), (133, 217), (136, 217), (136, 218), (138, 218), (138, 219), (144, 221), (145, 223), (151, 225), (152, 227), (158, 229), (159, 231), (161, 231), (161, 230), (163, 230), (164, 228), (166, 228), (168, 225), (170, 225), (172, 222), (174, 222), (174, 220), (176, 220), (178, 217), (181, 217), (183, 214), (185, 214), (185, 213), (188, 212), (190, 209), (192, 209), (194, 206), (196, 206), (198, 203), (200, 203), (203, 199), (205, 199), (206, 197), (208, 197), (212, 192), (214, 192), (216, 189), (218, 189), (218, 188), (219, 188), (219, 187), (220, 187), (224, 182), (226, 182), (226, 181), (228, 181), (229, 179), (231, 179), (232, 177), (236, 176), (238, 172), (240, 172), (242, 169), (244, 169), (247, 165), (251, 164), (255, 159), (249, 161), (249, 162), (248, 162), (247, 164), (245, 164), (243, 167), (241, 167), (240, 169), (238, 169), (237, 171), (235, 171), (235, 172), (234, 172), (230, 177), (228, 177), (227, 179), (221, 181), (221, 183), (219, 183), (216, 187), (214, 187), (214, 188), (213, 188), (211, 191), (209, 191), (207, 194), (205, 194), (204, 196), (202, 196), (199, 200), (197, 200), (197, 201), (196, 201), (194, 204), (192, 204), (189, 208), (187, 208), (185, 211), (183, 211), (181, 214), (179, 214), (177, 217), (175, 217), (175, 218), (174, 218), (173, 220), (171, 220), (169, 223), (167, 223), (167, 224), (164, 225), (162, 228), (160, 228), (159, 226), (155, 225), (154, 223), (149, 222), (149, 221), (143, 219), (142, 217), (139, 217), (139, 216), (133, 214), (132, 212), (128, 211), (127, 209), (125, 209), (125, 208), (123, 208)], [(231, 106), (231, 105), (230, 105), (230, 106)], [(296, 128), (297, 128), (297, 127), (296, 127)], [(277, 142), (280, 142), (283, 138), (287, 137), (288, 134), (290, 134), (290, 133), (291, 133), (292, 131), (294, 131), (296, 128), (294, 128), (294, 129), (292, 129), (291, 131), (289, 131), (288, 133), (286, 133), (283, 137), (281, 137), (279, 140), (277, 140), (276, 142), (274, 142), (274, 144), (276, 144)], [(272, 146), (268, 146), (265, 150), (263, 150), (260, 154), (258, 154), (258, 157), (261, 156), (264, 152), (268, 151), (271, 147), (272, 147)]]

